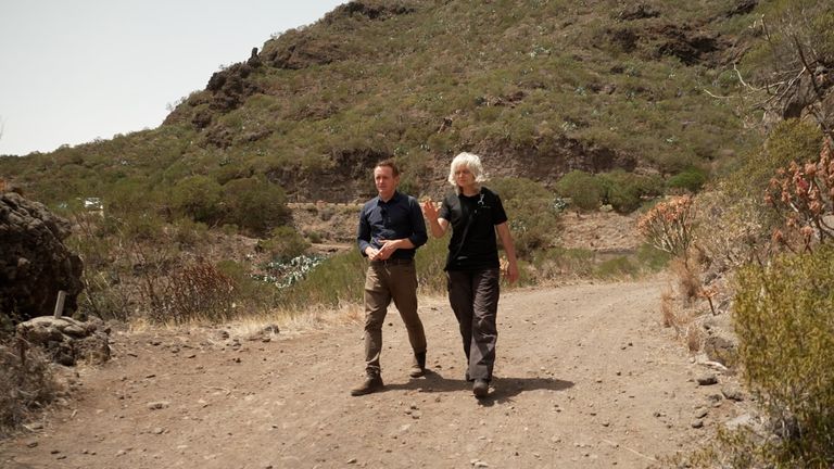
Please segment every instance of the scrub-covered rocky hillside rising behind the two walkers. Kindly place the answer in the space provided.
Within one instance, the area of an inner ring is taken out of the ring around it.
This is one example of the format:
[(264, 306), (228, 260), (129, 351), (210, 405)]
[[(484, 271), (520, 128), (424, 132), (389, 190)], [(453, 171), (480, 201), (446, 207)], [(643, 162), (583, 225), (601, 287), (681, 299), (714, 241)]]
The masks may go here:
[(0, 175), (47, 203), (166, 193), (195, 175), (350, 202), (388, 156), (404, 188), (437, 193), (462, 150), (546, 187), (571, 169), (709, 170), (757, 141), (705, 92), (740, 86), (732, 64), (755, 39), (756, 5), (353, 1), (215, 73), (156, 129), (0, 157)]

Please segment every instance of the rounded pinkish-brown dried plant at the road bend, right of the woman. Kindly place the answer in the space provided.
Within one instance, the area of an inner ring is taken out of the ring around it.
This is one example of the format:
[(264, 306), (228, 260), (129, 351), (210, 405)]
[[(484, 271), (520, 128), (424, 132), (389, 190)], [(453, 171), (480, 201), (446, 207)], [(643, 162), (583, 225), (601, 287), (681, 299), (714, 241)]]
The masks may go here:
[(637, 221), (637, 230), (660, 251), (685, 257), (693, 240), (692, 198), (682, 195), (655, 205)]

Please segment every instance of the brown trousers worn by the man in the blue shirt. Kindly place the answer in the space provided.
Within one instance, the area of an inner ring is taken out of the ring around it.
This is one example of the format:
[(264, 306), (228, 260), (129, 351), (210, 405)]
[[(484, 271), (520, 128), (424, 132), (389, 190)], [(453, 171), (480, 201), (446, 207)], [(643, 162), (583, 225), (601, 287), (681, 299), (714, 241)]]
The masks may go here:
[(426, 332), (417, 315), (417, 270), (414, 261), (372, 262), (365, 276), (365, 371), (368, 375), (379, 375), (382, 370), (379, 365), (382, 325), (392, 300), (405, 322), (414, 353), (426, 352)]

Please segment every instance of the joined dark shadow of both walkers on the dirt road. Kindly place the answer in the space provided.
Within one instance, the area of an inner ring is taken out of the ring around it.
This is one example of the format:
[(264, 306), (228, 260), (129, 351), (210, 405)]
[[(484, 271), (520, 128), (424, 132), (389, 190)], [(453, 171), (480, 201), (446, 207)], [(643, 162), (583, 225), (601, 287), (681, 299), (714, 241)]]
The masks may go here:
[[(490, 393), (478, 400), (484, 406), (503, 404), (525, 391), (564, 391), (573, 386), (573, 382), (555, 378), (510, 378), (493, 376)], [(463, 378), (445, 378), (440, 372), (426, 370), (424, 378), (412, 379), (404, 383), (386, 384), (386, 390), (412, 390), (420, 392), (472, 392), (472, 383)]]

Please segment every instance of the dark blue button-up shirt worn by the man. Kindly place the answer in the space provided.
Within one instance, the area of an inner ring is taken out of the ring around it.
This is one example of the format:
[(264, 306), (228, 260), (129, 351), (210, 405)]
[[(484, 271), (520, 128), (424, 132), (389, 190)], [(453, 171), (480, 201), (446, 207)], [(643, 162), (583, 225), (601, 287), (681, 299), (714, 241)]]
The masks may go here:
[(415, 248), (399, 249), (391, 254), (391, 258), (414, 258), (417, 248), (426, 244), (429, 239), (417, 199), (394, 192), (388, 202), (375, 197), (365, 203), (359, 212), (359, 229), (356, 234), (362, 255), (366, 255), (367, 246), (380, 249), (380, 240), (403, 238), (408, 238)]

